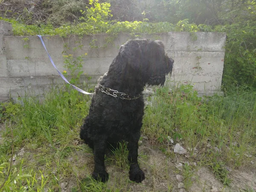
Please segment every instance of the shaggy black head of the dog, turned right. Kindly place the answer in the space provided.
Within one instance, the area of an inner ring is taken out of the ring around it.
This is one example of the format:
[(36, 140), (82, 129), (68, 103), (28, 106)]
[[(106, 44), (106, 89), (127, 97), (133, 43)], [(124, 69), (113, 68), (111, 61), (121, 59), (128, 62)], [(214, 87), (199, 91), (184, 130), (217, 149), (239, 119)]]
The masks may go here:
[(172, 73), (174, 60), (165, 53), (162, 41), (134, 39), (119, 49), (123, 72), (148, 85), (163, 85)]

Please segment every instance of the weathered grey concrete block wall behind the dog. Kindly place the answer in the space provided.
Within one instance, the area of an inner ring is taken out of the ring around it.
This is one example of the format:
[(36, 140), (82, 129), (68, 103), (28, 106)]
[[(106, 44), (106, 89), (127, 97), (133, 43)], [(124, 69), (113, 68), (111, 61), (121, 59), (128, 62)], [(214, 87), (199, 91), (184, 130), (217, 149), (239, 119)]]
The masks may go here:
[[(63, 84), (57, 71), (52, 67), (47, 53), (37, 36), (11, 36), (10, 23), (0, 21), (0, 98), (10, 96), (24, 96), (32, 91), (41, 94), (52, 84)], [(197, 40), (195, 40), (195, 36)], [(28, 38), (28, 39), (27, 39)], [(94, 36), (44, 36), (44, 42), (55, 65), (61, 72), (64, 68), (64, 44), (68, 47), (81, 47), (75, 51), (68, 51), (75, 57), (84, 56), (83, 71), (92, 76), (90, 83), (108, 71), (119, 47), (130, 39), (127, 34), (119, 36), (111, 43), (107, 43), (108, 35)], [(192, 83), (201, 93), (220, 91), (223, 64), (224, 44), (226, 35), (214, 32), (169, 32), (162, 34), (140, 34), (140, 38), (161, 40), (165, 44), (166, 52), (174, 58), (175, 66), (169, 84)], [(92, 42), (99, 48), (91, 48)], [(86, 78), (82, 78), (86, 81)]]

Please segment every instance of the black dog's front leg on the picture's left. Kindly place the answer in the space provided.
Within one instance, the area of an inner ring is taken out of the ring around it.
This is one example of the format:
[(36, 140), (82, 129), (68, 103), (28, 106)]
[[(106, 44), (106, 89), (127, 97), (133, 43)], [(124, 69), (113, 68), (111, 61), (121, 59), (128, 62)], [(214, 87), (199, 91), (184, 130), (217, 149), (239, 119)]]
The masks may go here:
[(108, 173), (105, 171), (105, 148), (106, 140), (99, 139), (94, 141), (94, 171), (93, 178), (98, 181), (106, 182), (108, 180)]

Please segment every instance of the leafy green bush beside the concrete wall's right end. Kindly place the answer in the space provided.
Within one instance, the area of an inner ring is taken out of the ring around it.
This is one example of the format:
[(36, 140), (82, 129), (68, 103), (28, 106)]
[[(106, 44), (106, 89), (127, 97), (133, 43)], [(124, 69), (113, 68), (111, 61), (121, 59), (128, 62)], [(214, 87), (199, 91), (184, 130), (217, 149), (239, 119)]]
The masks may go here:
[(223, 85), (256, 88), (256, 21), (215, 26), (218, 32), (227, 32)]

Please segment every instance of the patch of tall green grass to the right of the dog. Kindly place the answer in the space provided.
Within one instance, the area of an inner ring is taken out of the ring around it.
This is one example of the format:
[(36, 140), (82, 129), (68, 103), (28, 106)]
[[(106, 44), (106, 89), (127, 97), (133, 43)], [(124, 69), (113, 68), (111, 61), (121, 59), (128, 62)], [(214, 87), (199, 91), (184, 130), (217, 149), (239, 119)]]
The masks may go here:
[[(198, 97), (192, 86), (170, 92), (158, 89), (153, 107), (146, 108), (143, 133), (151, 140), (182, 139), (216, 177), (228, 185), (226, 166), (250, 164), (256, 154), (256, 93)], [(161, 117), (161, 118), (159, 118)]]

